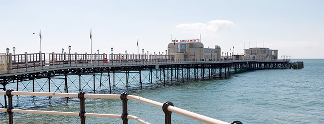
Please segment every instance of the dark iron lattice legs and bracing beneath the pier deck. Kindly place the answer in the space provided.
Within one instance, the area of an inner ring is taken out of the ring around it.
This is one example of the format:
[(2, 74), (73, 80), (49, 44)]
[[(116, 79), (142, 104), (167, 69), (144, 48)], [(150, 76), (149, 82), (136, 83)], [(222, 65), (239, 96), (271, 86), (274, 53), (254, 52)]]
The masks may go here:
[[(290, 62), (287, 61), (254, 60), (62, 63), (11, 70), (10, 73), (0, 74), (0, 84), (5, 90), (7, 84), (16, 83), (16, 88), (10, 87), (15, 91), (18, 91), (20, 84), (23, 86), (22, 91), (68, 93), (69, 89), (73, 88), (74, 91), (95, 92), (102, 88), (112, 93), (112, 90), (118, 86), (142, 88), (143, 83), (165, 85), (165, 83), (177, 81), (226, 78), (231, 75), (231, 72), (242, 69), (286, 69), (289, 67)], [(90, 76), (90, 79), (87, 80), (83, 76)], [(56, 79), (59, 80), (55, 81)], [(28, 90), (28, 85), (32, 85), (32, 90)], [(4, 99), (6, 99), (5, 96)]]

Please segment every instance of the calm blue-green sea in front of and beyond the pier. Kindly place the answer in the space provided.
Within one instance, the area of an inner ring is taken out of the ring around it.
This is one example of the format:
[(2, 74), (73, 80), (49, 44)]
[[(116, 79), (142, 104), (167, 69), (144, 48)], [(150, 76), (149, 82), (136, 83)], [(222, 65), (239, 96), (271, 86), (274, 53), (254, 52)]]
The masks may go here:
[[(310, 124), (324, 122), (324, 59), (303, 61), (303, 69), (256, 70), (232, 74), (230, 78), (162, 84), (145, 84), (129, 94), (174, 106), (225, 122), (243, 124)], [(73, 80), (73, 79), (71, 79)], [(88, 80), (88, 79), (85, 79)], [(59, 81), (58, 81), (59, 82)], [(29, 84), (30, 85), (30, 84)], [(59, 85), (59, 84), (58, 84)], [(7, 87), (15, 88), (15, 84)], [(22, 89), (23, 86), (19, 86)], [(120, 93), (125, 89), (115, 90)], [(75, 92), (71, 90), (70, 92)], [(99, 93), (107, 93), (102, 88)], [(14, 108), (79, 112), (77, 98), (14, 96)], [(3, 104), (3, 97), (0, 97)], [(129, 100), (129, 114), (152, 124), (163, 124), (162, 109)], [(86, 112), (121, 114), (117, 99), (86, 99)], [(0, 113), (0, 124), (8, 115)], [(79, 124), (79, 117), (14, 113), (15, 124)], [(86, 118), (87, 124), (121, 124), (121, 119)], [(138, 124), (129, 120), (130, 124)], [(172, 113), (173, 124), (201, 124)]]

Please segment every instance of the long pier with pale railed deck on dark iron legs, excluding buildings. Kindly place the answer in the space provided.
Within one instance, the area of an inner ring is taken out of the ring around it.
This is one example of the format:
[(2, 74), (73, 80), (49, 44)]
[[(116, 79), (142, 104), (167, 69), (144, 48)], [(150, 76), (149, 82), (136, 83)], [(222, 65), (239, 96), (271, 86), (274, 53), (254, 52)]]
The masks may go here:
[[(45, 59), (46, 56), (48, 59)], [(0, 58), (3, 91), (13, 89), (43, 93), (71, 93), (69, 89), (72, 87), (77, 91), (87, 88), (88, 92), (96, 93), (101, 87), (112, 94), (118, 83), (126, 88), (142, 88), (143, 83), (166, 85), (170, 82), (227, 78), (239, 70), (288, 69), (292, 65), (290, 59), (173, 59), (173, 55), (161, 54), (9, 53), (1, 54)], [(84, 80), (83, 76), (90, 76), (90, 80)], [(57, 83), (53, 81), (55, 79), (64, 81)], [(11, 83), (16, 83), (16, 87), (6, 87)], [(24, 88), (18, 89), (19, 85)], [(8, 108), (6, 98), (4, 95), (4, 108)]]

